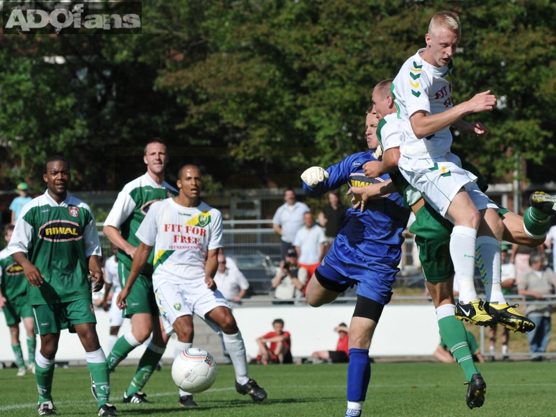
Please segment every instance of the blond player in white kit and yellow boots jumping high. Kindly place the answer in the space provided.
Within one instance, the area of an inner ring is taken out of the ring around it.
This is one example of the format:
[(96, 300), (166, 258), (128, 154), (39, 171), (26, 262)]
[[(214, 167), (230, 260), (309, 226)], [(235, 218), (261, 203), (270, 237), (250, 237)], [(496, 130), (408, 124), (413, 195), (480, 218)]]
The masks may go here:
[[(402, 65), (393, 82), (393, 97), (404, 126), (399, 169), (436, 211), (455, 224), (450, 256), (460, 288), (456, 317), (490, 325), (493, 317), (509, 309), (500, 286), (504, 226), (496, 204), (477, 187), (477, 177), (463, 170), (459, 158), (450, 152), (450, 126), (480, 138), (486, 136), (488, 130), (482, 124), (466, 123), (461, 117), (491, 111), (496, 97), (486, 91), (453, 106), (452, 56), (461, 35), (459, 19), (451, 12), (437, 13), (428, 32), (427, 47)], [(488, 311), (473, 284), (475, 257), (482, 270)]]

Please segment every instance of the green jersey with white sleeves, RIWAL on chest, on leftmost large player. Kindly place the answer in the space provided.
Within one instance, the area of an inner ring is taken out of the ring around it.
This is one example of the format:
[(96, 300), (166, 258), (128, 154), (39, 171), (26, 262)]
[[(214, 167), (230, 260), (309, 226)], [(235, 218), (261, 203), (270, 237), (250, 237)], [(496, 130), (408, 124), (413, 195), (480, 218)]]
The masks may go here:
[(101, 256), (95, 217), (80, 199), (67, 195), (58, 205), (48, 190), (28, 202), (15, 223), (8, 254), (24, 252), (44, 277), (28, 286), (31, 305), (91, 299), (87, 258)]

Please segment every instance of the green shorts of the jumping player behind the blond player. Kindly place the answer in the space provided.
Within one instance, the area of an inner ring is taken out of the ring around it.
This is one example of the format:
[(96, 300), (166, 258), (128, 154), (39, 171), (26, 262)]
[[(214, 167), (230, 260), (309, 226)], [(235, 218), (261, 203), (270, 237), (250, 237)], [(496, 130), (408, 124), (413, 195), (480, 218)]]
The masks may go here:
[(453, 224), (425, 204), (415, 216), (409, 231), (415, 234), (419, 250), (419, 261), (425, 280), (442, 282), (454, 275), (454, 264), (450, 257), (450, 234)]

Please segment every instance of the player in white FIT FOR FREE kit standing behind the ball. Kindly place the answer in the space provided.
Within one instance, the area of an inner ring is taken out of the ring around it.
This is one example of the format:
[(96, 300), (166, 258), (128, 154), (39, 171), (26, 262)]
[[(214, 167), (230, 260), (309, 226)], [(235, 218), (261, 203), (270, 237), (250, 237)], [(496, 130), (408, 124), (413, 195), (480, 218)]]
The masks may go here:
[[(247, 377), (243, 338), (229, 303), (213, 279), (222, 247), (222, 215), (201, 201), (201, 173), (197, 166), (183, 166), (177, 186), (179, 195), (153, 204), (136, 232), (141, 243), (117, 304), (121, 309), (126, 307), (126, 297), (154, 247), (153, 288), (166, 333), (175, 332), (178, 336), (174, 358), (192, 346), (195, 313), (213, 329), (222, 329), (224, 345), (236, 371), (236, 391), (250, 394), (255, 402), (262, 401), (266, 393)], [(197, 406), (193, 395), (182, 390), (179, 404)]]

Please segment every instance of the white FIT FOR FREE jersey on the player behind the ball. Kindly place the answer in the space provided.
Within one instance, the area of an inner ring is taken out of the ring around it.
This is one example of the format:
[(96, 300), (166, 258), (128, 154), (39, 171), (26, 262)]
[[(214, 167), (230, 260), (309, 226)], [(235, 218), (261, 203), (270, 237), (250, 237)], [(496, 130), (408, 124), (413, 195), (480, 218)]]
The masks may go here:
[(204, 202), (184, 207), (169, 198), (152, 204), (136, 236), (154, 246), (153, 285), (204, 279), (208, 251), (222, 247), (222, 215)]

